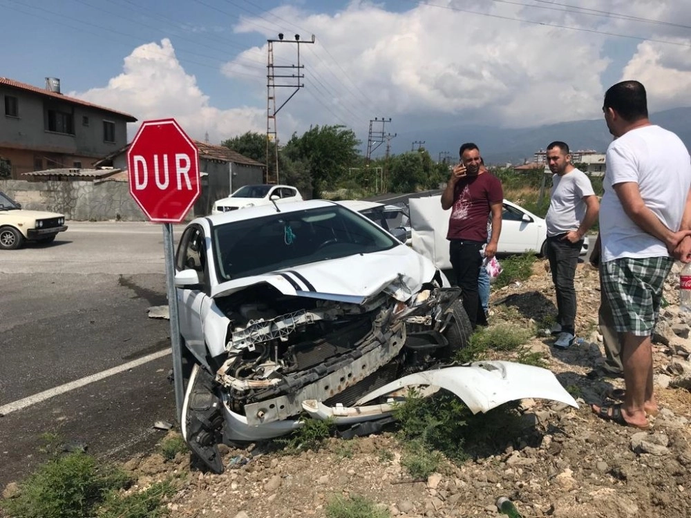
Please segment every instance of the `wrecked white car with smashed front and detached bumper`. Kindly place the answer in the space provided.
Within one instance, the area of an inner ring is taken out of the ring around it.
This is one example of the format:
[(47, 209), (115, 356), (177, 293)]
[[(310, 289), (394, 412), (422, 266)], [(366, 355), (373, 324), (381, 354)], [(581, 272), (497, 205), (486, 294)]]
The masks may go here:
[(470, 325), (441, 271), (368, 218), (325, 200), (187, 225), (176, 253), (182, 434), (215, 472), (217, 445), (278, 437), (305, 412), (339, 424), (388, 416), (410, 387), (473, 412), (512, 399), (575, 401), (547, 370), (439, 368)]

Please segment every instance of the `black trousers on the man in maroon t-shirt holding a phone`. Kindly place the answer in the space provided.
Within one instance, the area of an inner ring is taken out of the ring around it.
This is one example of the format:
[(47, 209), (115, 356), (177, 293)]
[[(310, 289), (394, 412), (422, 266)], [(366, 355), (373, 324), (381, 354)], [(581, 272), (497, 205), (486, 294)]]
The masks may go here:
[(456, 284), (462, 291), (463, 307), (473, 329), (478, 322), (486, 324), (484, 310), (480, 305), (480, 295), (477, 292), (477, 277), (480, 276), (482, 267), (480, 250), (483, 244), (485, 241), (454, 239), (448, 247)]

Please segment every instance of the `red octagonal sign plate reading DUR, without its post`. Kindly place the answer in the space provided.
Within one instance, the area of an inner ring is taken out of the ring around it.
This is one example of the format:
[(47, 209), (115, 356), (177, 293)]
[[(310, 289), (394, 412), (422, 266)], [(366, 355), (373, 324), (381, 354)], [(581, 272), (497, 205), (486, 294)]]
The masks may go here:
[(175, 119), (145, 121), (127, 151), (129, 189), (150, 221), (180, 223), (199, 198), (199, 153)]

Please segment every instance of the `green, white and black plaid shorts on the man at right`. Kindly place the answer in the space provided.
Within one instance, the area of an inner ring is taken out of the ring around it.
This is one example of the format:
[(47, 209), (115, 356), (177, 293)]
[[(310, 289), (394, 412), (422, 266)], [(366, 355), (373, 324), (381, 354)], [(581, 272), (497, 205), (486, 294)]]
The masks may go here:
[(671, 257), (621, 258), (603, 263), (602, 289), (620, 333), (650, 336), (660, 310)]

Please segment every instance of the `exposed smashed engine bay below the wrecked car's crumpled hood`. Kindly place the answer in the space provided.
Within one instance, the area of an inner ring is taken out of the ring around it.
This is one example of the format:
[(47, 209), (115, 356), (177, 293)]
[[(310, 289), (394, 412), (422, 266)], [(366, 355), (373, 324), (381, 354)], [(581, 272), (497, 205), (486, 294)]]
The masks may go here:
[(355, 304), (252, 286), (217, 300), (231, 322), (216, 381), (249, 424), (299, 414), (305, 399), (350, 405), (462, 347), (469, 325), (451, 310), (459, 295), (430, 283), (409, 303), (381, 292)]

